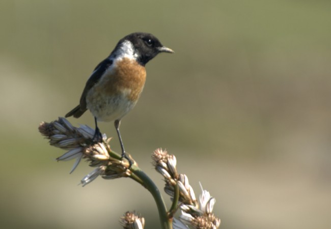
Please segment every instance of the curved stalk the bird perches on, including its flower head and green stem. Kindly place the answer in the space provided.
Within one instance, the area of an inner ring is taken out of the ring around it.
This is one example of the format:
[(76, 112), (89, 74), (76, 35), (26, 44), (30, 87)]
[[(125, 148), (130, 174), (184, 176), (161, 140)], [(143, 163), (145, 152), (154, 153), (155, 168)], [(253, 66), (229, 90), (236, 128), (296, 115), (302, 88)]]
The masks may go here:
[(70, 173), (74, 171), (82, 158), (86, 159), (90, 166), (95, 167), (91, 173), (81, 179), (82, 186), (91, 183), (99, 176), (107, 180), (129, 177), (143, 185), (152, 194), (158, 208), (162, 228), (172, 228), (172, 221), (168, 218), (167, 207), (157, 186), (132, 158), (133, 164), (130, 166), (128, 161), (121, 160), (121, 156), (111, 150), (109, 146), (111, 138), (107, 139), (103, 135), (102, 142), (94, 142), (92, 128), (85, 125), (74, 127), (65, 118), (59, 118), (50, 123), (42, 122), (39, 131), (49, 139), (51, 146), (68, 150), (57, 158), (58, 161), (76, 159)]

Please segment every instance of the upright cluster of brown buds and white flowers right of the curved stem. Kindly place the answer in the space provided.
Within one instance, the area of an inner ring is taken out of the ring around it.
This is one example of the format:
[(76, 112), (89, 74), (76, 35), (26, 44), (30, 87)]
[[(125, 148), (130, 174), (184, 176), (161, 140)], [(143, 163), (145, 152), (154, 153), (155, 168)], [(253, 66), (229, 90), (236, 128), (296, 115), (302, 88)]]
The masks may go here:
[(174, 228), (188, 228), (190, 225), (197, 229), (216, 229), (220, 225), (220, 219), (212, 213), (215, 198), (201, 186), (202, 194), (199, 203), (193, 188), (188, 182), (185, 174), (178, 174), (176, 168), (176, 157), (168, 154), (166, 150), (157, 149), (152, 154), (155, 169), (163, 176), (166, 185), (164, 191), (174, 199), (175, 188), (179, 188), (179, 207), (181, 223), (174, 219)]

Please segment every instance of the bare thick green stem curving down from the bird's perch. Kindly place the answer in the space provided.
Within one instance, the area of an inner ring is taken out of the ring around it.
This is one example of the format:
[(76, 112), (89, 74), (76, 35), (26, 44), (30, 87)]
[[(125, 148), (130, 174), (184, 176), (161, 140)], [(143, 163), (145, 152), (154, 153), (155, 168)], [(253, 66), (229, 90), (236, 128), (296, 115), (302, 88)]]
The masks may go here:
[(138, 166), (132, 165), (132, 173), (143, 181), (143, 186), (152, 194), (156, 202), (162, 229), (172, 229), (172, 219), (168, 218), (167, 207), (154, 182)]

